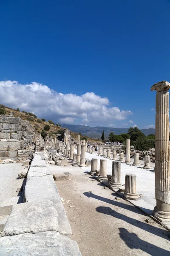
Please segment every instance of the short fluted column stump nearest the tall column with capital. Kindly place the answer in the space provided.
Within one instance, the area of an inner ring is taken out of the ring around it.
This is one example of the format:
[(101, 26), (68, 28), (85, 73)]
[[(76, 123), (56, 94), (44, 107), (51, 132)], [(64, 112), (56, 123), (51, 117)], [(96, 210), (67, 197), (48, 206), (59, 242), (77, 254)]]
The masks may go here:
[(136, 175), (128, 173), (125, 176), (124, 197), (130, 200), (138, 200), (139, 194), (136, 192)]

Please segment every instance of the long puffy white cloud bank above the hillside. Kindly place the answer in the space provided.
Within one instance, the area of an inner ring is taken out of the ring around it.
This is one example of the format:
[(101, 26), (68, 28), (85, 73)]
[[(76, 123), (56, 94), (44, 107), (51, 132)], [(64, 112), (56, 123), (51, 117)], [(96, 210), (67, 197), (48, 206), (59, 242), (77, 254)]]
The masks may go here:
[(0, 81), (0, 103), (61, 123), (103, 123), (107, 126), (115, 120), (127, 119), (132, 114), (129, 110), (108, 107), (108, 98), (93, 92), (82, 96), (62, 94), (37, 82), (20, 84), (17, 81)]

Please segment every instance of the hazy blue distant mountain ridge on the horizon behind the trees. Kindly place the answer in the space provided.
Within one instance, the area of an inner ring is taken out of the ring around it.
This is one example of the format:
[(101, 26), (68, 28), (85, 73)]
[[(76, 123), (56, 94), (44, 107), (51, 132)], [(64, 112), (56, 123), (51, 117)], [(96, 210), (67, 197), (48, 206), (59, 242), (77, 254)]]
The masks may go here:
[[(102, 131), (105, 132), (105, 139), (108, 139), (108, 136), (111, 131), (113, 131), (114, 134), (119, 135), (122, 133), (127, 133), (129, 128), (111, 128), (111, 127), (102, 127), (102, 126), (96, 126), (96, 127), (90, 127), (86, 125), (68, 125), (68, 124), (62, 124), (63, 128), (68, 128), (70, 131), (74, 132), (81, 132), (82, 135), (87, 135), (90, 138), (93, 139), (101, 139)], [(155, 134), (155, 129), (149, 128), (149, 129), (142, 129), (141, 130), (146, 136), (149, 134)]]

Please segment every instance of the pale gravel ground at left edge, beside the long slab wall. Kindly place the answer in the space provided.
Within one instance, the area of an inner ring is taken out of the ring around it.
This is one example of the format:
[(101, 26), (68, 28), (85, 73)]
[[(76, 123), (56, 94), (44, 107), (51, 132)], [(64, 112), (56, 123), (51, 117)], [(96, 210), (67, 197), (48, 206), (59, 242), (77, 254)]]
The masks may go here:
[(0, 164), (0, 203), (18, 195), (17, 188), (23, 183), (23, 179), (18, 178), (18, 173), (24, 169), (22, 165), (23, 163)]

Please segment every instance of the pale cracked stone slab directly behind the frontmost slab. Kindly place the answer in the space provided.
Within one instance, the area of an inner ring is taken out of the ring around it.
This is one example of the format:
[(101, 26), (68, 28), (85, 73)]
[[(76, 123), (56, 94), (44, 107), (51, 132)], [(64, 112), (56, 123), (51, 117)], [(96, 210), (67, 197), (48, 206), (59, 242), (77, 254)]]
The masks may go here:
[(57, 217), (57, 209), (49, 200), (14, 205), (2, 236), (58, 231)]

